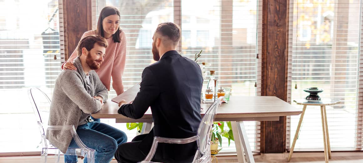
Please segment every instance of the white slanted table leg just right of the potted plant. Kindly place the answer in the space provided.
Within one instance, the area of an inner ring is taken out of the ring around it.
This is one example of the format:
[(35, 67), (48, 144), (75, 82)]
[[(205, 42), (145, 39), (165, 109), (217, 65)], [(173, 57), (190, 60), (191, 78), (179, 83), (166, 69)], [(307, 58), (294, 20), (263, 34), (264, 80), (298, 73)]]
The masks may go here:
[[(251, 147), (250, 147), (249, 142), (248, 142), (248, 137), (247, 137), (245, 125), (243, 124), (243, 121), (236, 122), (235, 124), (236, 124), (235, 128), (237, 128), (237, 132), (238, 132), (238, 135), (239, 135), (238, 137), (239, 137), (239, 139), (241, 141), (240, 144), (242, 144), (244, 152), (245, 152), (246, 161), (248, 163), (254, 163), (252, 150), (251, 150)], [(233, 134), (233, 136), (234, 136), (234, 134)], [(236, 136), (234, 136), (234, 137), (236, 137)], [(234, 139), (236, 139), (236, 138), (234, 138)], [(238, 162), (240, 162), (240, 161), (238, 160)]]

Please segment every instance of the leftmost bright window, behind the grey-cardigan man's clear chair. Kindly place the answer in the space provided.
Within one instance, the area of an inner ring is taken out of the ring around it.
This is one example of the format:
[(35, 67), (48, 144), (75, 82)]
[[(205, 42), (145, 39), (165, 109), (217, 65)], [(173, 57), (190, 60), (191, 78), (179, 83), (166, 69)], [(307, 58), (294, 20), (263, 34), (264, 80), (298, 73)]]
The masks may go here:
[(51, 95), (60, 72), (58, 0), (0, 1), (0, 152), (40, 151), (27, 89)]

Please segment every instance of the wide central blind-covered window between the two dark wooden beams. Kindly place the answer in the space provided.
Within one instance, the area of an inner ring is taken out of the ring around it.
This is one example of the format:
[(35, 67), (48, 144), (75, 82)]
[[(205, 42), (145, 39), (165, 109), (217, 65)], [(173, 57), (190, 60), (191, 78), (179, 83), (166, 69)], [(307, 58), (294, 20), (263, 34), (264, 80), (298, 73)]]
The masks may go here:
[[(195, 53), (203, 50), (198, 62), (211, 64), (205, 69), (216, 70), (219, 86), (232, 87), (233, 95), (260, 95), (261, 59), (256, 56), (262, 47), (262, 0), (95, 0), (94, 29), (99, 12), (109, 5), (121, 12), (120, 27), (127, 38), (125, 89), (139, 82), (143, 69), (154, 62), (151, 44), (157, 25), (171, 21), (181, 27), (177, 49), (181, 55), (194, 60)], [(111, 89), (110, 96), (114, 95)], [(259, 152), (260, 123), (245, 122), (245, 126), (251, 147)], [(230, 148), (227, 140), (223, 143), (225, 151), (235, 150), (234, 143)]]

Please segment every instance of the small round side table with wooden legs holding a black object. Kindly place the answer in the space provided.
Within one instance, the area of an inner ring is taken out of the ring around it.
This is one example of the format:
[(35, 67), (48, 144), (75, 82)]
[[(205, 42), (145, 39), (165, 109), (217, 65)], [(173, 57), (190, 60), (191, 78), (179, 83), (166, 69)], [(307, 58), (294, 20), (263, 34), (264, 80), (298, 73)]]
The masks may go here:
[(330, 151), (330, 140), (329, 140), (329, 131), (328, 131), (328, 124), (327, 124), (327, 119), (326, 119), (325, 106), (326, 105), (335, 105), (335, 104), (339, 103), (340, 101), (336, 100), (336, 99), (322, 99), (321, 101), (315, 102), (315, 101), (307, 101), (306, 99), (298, 99), (298, 100), (294, 100), (294, 102), (296, 102), (296, 104), (303, 105), (303, 108), (302, 108), (302, 113), (301, 113), (301, 117), (299, 120), (299, 124), (297, 125), (293, 144), (291, 145), (291, 148), (290, 148), (289, 158), (287, 158), (287, 162), (290, 162), (291, 156), (293, 155), (296, 139), (297, 139), (297, 136), (299, 135), (302, 119), (304, 117), (305, 110), (306, 110), (306, 106), (315, 105), (315, 106), (320, 106), (321, 123), (322, 123), (322, 127), (323, 127), (323, 138), (324, 138), (324, 155), (325, 155), (324, 158), (325, 158), (325, 163), (329, 163), (329, 159), (331, 159), (331, 151)]

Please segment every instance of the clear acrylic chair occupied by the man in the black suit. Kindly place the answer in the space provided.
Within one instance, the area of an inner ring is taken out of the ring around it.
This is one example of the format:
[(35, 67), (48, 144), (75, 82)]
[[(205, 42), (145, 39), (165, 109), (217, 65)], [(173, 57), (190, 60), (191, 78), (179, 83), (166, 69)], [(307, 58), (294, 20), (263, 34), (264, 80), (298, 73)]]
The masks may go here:
[(224, 96), (219, 97), (205, 112), (202, 121), (199, 124), (196, 136), (185, 139), (154, 137), (150, 152), (146, 158), (139, 163), (150, 163), (156, 152), (158, 143), (186, 144), (197, 141), (198, 150), (195, 153), (192, 163), (211, 163), (211, 130), (218, 107), (221, 105)]

